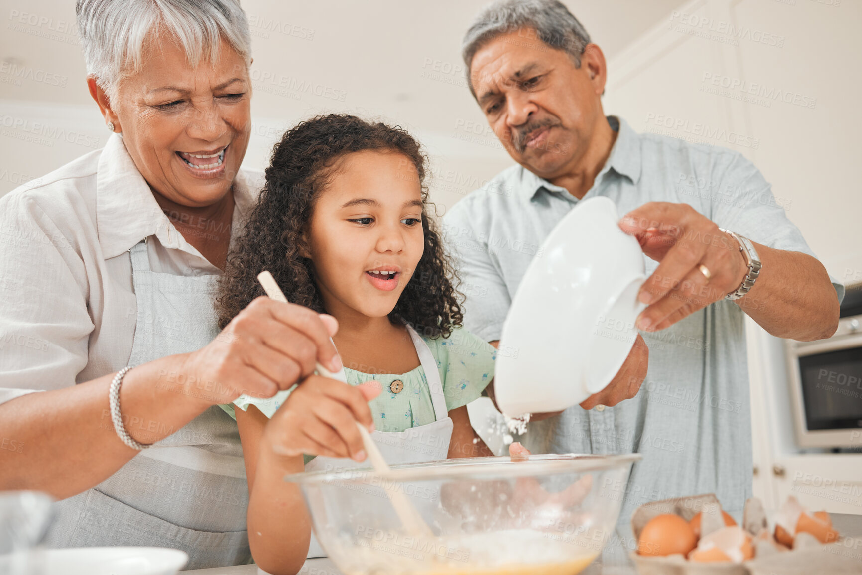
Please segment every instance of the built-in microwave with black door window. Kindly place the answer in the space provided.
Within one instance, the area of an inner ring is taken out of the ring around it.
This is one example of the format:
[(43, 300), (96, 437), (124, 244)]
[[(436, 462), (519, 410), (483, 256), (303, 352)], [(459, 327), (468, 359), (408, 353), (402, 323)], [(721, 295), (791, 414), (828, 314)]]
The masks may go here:
[(785, 349), (799, 447), (862, 447), (862, 284), (847, 287), (832, 337)]

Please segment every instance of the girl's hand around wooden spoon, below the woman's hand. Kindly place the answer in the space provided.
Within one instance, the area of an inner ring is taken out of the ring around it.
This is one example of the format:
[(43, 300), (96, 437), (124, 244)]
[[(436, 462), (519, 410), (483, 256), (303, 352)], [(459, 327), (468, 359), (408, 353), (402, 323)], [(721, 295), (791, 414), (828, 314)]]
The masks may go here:
[(363, 461), (365, 449), (356, 422), (374, 430), (368, 402), (381, 389), (377, 381), (351, 387), (335, 379), (309, 376), (266, 425), (264, 445), (281, 455), (308, 453)]

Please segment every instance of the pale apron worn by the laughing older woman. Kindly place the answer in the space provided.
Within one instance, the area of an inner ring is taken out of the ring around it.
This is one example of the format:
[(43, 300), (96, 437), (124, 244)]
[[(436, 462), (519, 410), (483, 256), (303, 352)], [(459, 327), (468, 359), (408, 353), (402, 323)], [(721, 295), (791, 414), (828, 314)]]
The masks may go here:
[[(153, 272), (146, 241), (129, 252), (138, 319), (128, 365), (192, 352), (212, 341), (219, 332), (213, 308), (217, 276)], [(171, 379), (166, 374), (153, 384), (178, 386)], [(197, 391), (205, 394), (202, 388)], [(112, 426), (109, 417), (103, 424)], [(93, 489), (55, 505), (47, 547), (174, 547), (189, 553), (186, 569), (252, 559), (240, 434), (218, 406), (144, 449)]]

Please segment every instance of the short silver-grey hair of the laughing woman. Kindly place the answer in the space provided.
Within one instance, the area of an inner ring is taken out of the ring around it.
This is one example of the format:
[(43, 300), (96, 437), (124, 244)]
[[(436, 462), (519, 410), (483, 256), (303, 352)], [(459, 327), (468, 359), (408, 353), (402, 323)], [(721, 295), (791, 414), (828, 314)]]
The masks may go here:
[(150, 34), (172, 34), (191, 66), (215, 62), (222, 40), (251, 65), (252, 36), (239, 0), (78, 0), (75, 11), (87, 73), (109, 97), (125, 73), (141, 69)]

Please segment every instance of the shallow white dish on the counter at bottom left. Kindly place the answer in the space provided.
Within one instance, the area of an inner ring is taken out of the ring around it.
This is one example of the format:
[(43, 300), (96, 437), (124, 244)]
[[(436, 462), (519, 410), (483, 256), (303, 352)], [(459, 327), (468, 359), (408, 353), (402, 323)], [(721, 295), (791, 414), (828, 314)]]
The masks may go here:
[(189, 560), (163, 547), (79, 547), (40, 552), (46, 575), (174, 575)]

